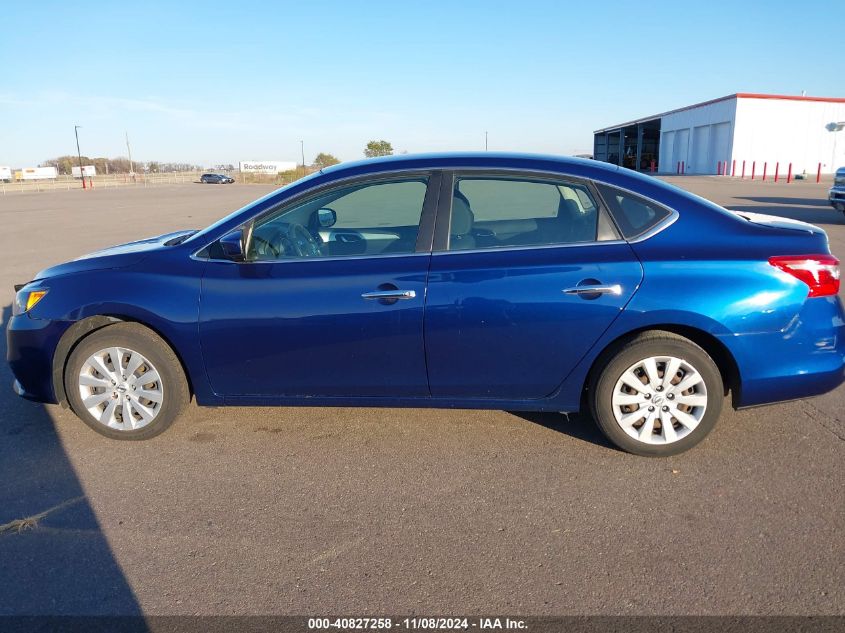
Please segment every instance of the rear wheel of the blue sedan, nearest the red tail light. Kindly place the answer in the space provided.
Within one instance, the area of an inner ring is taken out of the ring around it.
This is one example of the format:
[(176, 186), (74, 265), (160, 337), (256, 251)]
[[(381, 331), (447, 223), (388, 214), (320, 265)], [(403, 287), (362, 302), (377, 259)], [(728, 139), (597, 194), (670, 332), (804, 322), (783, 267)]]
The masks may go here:
[[(640, 334), (606, 352), (596, 366), (603, 369), (590, 385), (590, 409), (604, 435), (624, 451), (677, 455), (703, 440), (719, 419), (724, 401), (719, 369), (682, 336)], [(667, 382), (666, 371), (673, 369)]]

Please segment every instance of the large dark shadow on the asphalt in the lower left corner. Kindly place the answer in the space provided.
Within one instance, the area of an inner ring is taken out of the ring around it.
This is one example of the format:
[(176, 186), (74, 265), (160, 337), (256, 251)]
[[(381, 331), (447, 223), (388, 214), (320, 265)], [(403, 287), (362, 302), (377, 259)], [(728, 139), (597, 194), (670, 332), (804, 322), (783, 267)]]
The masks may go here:
[[(6, 306), (4, 333), (10, 315)], [(3, 336), (0, 616), (142, 615), (47, 408), (12, 391), (6, 347)], [(2, 622), (5, 628), (14, 619)], [(148, 630), (139, 617), (121, 626)]]

